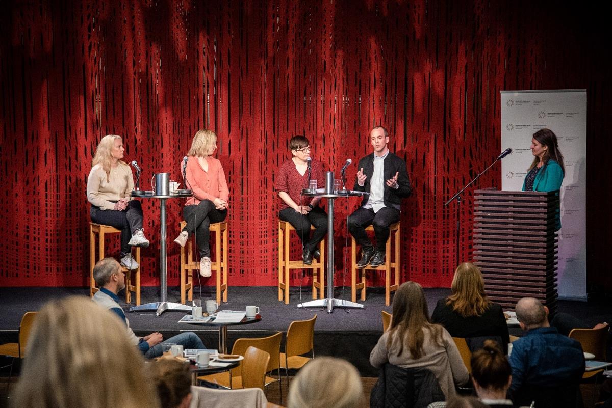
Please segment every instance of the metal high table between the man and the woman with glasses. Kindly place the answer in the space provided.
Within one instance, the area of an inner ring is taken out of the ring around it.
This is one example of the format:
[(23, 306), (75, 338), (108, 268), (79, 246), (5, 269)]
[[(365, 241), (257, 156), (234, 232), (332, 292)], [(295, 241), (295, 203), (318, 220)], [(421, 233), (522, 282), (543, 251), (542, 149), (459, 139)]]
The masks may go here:
[(325, 194), (324, 192), (302, 192), (307, 197), (323, 197), (327, 199), (327, 298), (316, 301), (304, 302), (297, 307), (327, 307), (327, 313), (332, 313), (334, 307), (364, 308), (364, 305), (345, 301), (345, 299), (334, 299), (334, 200), (342, 197), (361, 197), (369, 194), (364, 191), (341, 190), (337, 194)]

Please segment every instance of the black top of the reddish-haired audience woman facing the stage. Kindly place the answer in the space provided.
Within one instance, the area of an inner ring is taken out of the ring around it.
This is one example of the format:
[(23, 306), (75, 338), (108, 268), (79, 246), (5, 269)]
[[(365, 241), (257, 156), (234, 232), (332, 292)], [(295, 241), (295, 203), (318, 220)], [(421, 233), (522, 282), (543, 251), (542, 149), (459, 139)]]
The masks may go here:
[(454, 311), (451, 305), (446, 305), (446, 299), (440, 299), (431, 315), (431, 321), (441, 324), (452, 337), (474, 338), (499, 336), (504, 352), (507, 352), (510, 335), (501, 305), (491, 303), (482, 316), (462, 317)]

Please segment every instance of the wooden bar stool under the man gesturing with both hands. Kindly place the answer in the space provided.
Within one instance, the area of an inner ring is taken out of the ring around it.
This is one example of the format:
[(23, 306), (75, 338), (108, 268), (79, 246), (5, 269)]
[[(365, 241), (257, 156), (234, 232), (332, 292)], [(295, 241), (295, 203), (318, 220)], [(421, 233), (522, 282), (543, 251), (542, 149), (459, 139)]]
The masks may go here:
[[(372, 225), (365, 228), (366, 231), (374, 231), (374, 227)], [(387, 239), (387, 247), (385, 253), (384, 264), (376, 267), (372, 267), (370, 265), (365, 268), (357, 268), (357, 242), (355, 242), (355, 238), (351, 237), (351, 300), (353, 302), (357, 301), (357, 290), (361, 290), (361, 300), (365, 301), (365, 271), (367, 269), (374, 271), (384, 271), (384, 285), (385, 285), (385, 293), (384, 293), (384, 304), (389, 306), (391, 301), (391, 292), (396, 291), (400, 286), (400, 235), (401, 235), (401, 226), (400, 222), (396, 222), (395, 224), (391, 224), (389, 227), (389, 239)], [(391, 241), (392, 238), (395, 241), (395, 249), (391, 252)], [(392, 257), (393, 255), (393, 257)], [(361, 270), (361, 282), (357, 283), (357, 270)], [(394, 284), (391, 285), (391, 270), (393, 269), (395, 274)]]

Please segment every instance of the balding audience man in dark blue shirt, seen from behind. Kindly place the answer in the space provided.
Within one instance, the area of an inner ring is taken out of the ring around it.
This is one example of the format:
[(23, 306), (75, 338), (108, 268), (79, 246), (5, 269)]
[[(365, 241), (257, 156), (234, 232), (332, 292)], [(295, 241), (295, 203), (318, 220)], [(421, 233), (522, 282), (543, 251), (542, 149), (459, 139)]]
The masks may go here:
[(512, 343), (513, 401), (536, 407), (573, 406), (580, 396), (584, 355), (578, 341), (548, 324), (548, 308), (533, 297), (517, 303), (517, 319), (527, 333)]

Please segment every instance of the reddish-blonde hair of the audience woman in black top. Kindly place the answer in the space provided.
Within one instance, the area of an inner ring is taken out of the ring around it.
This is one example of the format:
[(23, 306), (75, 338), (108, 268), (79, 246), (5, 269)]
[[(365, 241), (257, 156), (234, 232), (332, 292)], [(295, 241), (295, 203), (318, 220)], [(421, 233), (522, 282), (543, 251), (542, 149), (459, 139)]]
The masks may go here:
[(452, 306), (453, 310), (463, 318), (482, 316), (482, 313), (491, 307), (480, 269), (471, 262), (457, 266), (453, 283), (450, 285), (450, 293), (446, 304)]

